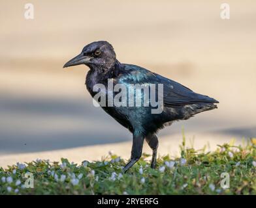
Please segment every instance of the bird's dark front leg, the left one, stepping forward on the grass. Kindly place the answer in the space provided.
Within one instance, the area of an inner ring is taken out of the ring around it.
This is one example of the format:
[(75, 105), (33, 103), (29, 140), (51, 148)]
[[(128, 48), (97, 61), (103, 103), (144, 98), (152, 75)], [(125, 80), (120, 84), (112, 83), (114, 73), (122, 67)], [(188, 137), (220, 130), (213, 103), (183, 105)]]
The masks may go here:
[(143, 136), (133, 135), (133, 148), (131, 149), (131, 159), (123, 168), (123, 172), (127, 172), (141, 157), (142, 146), (144, 138)]

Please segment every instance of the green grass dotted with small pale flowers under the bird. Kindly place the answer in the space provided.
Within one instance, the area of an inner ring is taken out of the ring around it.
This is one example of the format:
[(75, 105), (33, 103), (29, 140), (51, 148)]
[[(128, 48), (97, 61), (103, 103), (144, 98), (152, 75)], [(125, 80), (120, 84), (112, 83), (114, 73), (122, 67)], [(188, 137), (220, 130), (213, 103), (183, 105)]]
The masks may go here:
[[(80, 165), (61, 159), (0, 168), (0, 194), (256, 194), (255, 144), (224, 144), (206, 153), (185, 148), (184, 139), (180, 148), (182, 157), (161, 157), (156, 170), (143, 155), (127, 174), (127, 161), (117, 155)], [(24, 187), (26, 172), (33, 174), (34, 188)], [(229, 188), (221, 187), (223, 172)]]

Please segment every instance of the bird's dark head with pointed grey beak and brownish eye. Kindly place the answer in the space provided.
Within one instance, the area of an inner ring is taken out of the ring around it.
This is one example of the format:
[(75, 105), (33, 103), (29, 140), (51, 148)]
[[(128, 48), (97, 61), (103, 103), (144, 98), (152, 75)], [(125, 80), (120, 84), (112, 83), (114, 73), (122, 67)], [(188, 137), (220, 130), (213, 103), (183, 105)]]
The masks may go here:
[(63, 68), (85, 64), (89, 68), (111, 68), (116, 61), (114, 48), (106, 41), (92, 42), (86, 45), (82, 52), (69, 60)]

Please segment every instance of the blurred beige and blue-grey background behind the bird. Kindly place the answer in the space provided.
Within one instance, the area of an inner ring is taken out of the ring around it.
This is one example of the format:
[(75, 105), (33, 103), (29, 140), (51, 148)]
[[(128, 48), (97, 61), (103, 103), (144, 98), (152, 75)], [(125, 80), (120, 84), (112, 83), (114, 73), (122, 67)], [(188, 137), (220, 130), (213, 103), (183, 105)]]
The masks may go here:
[[(131, 134), (95, 108), (86, 66), (63, 69), (84, 45), (107, 40), (118, 60), (148, 68), (219, 100), (218, 109), (159, 133), (256, 135), (256, 2), (0, 2), (0, 155), (130, 141)], [(113, 129), (115, 128), (115, 131)], [(100, 129), (100, 131), (99, 131)]]

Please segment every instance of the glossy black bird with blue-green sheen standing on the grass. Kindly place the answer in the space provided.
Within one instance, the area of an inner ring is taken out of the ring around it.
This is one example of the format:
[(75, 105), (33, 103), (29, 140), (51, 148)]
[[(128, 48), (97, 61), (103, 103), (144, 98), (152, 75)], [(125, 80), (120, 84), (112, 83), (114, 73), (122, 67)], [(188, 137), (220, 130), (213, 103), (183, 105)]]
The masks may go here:
[[(93, 90), (93, 86), (96, 84), (105, 86), (106, 90), (103, 90), (105, 96), (118, 94), (118, 92), (113, 92), (113, 89), (108, 89), (108, 80), (112, 80), (114, 86), (123, 84), (128, 90), (131, 88), (129, 84), (142, 86), (162, 84), (163, 86), (163, 111), (158, 114), (152, 113), (153, 105), (148, 107), (144, 105), (140, 107), (130, 107), (130, 105), (117, 107), (108, 105), (110, 101), (107, 101), (106, 106), (101, 105), (103, 110), (133, 133), (131, 159), (123, 168), (124, 172), (140, 159), (144, 139), (153, 150), (151, 167), (155, 168), (158, 147), (157, 131), (176, 120), (187, 120), (199, 112), (216, 109), (217, 106), (214, 103), (219, 103), (216, 99), (197, 94), (175, 81), (140, 66), (121, 64), (116, 59), (114, 48), (106, 41), (92, 42), (86, 45), (82, 52), (69, 60), (63, 68), (79, 64), (85, 64), (89, 67), (86, 87), (92, 97), (98, 93), (98, 91)], [(145, 96), (145, 92), (141, 94), (141, 98), (143, 96)]]

